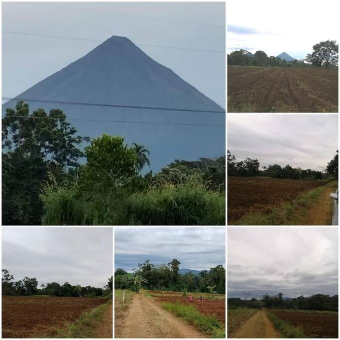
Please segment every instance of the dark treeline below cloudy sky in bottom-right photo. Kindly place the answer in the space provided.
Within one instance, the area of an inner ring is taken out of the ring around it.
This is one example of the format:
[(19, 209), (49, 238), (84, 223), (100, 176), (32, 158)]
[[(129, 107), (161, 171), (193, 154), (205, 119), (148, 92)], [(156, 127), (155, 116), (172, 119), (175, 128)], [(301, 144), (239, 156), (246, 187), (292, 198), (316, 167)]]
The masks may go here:
[(310, 297), (303, 295), (297, 298), (283, 298), (283, 294), (277, 295), (265, 294), (261, 299), (252, 298), (250, 300), (241, 300), (240, 298), (228, 298), (227, 307), (232, 308), (282, 308), (298, 309), (306, 311), (333, 311), (338, 312), (338, 295), (329, 296), (324, 294), (315, 294)]

